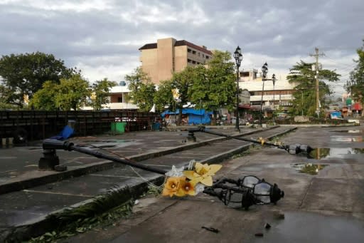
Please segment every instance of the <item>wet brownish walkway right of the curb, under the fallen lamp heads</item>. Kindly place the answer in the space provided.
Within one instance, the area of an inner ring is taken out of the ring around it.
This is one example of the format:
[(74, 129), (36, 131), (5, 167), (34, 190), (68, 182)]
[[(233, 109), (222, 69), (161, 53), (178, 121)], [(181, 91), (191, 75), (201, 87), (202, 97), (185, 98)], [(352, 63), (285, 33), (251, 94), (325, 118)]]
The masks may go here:
[[(231, 209), (209, 195), (146, 197), (136, 205), (134, 217), (115, 222), (116, 227), (62, 242), (363, 242), (364, 155), (347, 151), (361, 151), (364, 143), (338, 143), (331, 137), (336, 130), (343, 128), (298, 128), (280, 138), (285, 144), (327, 148), (330, 157), (324, 160), (255, 147), (222, 163), (216, 177), (255, 175), (277, 183), (285, 192), (277, 205), (254, 205), (245, 211)], [(339, 133), (345, 138), (345, 133)], [(315, 175), (294, 167), (306, 163), (326, 166)], [(269, 229), (264, 227), (267, 223)]]

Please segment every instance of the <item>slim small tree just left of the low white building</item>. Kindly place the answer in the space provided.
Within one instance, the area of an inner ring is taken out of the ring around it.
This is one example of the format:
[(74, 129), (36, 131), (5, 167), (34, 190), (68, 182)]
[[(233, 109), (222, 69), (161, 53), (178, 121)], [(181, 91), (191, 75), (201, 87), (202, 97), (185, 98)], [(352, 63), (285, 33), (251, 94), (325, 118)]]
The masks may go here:
[(92, 83), (91, 104), (95, 110), (101, 110), (102, 105), (109, 102), (110, 88), (116, 85), (116, 82), (108, 81), (107, 78)]

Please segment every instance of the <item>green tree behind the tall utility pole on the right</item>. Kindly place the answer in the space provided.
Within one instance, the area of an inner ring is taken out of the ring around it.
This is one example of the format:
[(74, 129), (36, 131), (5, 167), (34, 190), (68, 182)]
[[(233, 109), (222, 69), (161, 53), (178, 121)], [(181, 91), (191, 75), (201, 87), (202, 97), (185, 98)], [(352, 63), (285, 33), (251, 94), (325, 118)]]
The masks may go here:
[[(287, 80), (289, 83), (296, 85), (296, 91), (293, 93), (294, 100), (292, 100), (292, 108), (290, 110), (293, 115), (300, 115), (301, 112), (311, 116), (316, 114), (316, 71), (311, 69), (313, 64), (301, 61), (289, 70)], [(334, 71), (326, 69), (319, 71), (319, 101), (321, 110), (328, 108), (328, 95), (332, 93), (325, 81), (338, 81), (339, 76)]]

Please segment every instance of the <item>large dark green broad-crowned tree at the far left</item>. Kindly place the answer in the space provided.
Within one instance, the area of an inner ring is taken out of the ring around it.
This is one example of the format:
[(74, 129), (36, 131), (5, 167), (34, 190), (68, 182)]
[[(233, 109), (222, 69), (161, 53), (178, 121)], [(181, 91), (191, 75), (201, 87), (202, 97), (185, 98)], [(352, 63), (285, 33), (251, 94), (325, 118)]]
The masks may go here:
[(45, 81), (59, 83), (60, 78), (70, 78), (73, 73), (75, 69), (66, 68), (63, 61), (41, 52), (11, 54), (0, 59), (0, 76), (4, 86), (11, 91), (6, 102), (20, 107), (23, 95), (32, 98)]

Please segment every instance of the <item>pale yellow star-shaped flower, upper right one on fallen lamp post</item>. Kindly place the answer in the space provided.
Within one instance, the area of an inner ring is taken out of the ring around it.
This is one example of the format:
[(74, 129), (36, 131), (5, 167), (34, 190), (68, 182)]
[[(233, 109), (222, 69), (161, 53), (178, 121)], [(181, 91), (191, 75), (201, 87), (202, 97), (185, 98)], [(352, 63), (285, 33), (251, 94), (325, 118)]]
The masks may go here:
[(215, 175), (221, 167), (223, 167), (223, 165), (208, 165), (196, 162), (195, 170), (186, 170), (183, 171), (183, 174), (191, 180), (190, 182), (193, 186), (200, 182), (203, 185), (210, 187), (213, 185), (212, 176)]

